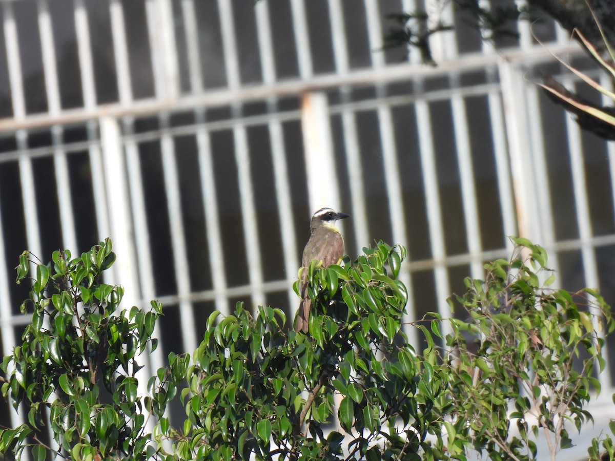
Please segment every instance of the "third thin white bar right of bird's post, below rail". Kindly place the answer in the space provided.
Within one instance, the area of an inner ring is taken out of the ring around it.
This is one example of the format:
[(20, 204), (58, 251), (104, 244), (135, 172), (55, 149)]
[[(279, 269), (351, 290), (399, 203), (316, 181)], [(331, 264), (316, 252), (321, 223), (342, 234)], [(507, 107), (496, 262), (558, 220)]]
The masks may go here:
[[(417, 84), (420, 85), (420, 84)], [(422, 85), (420, 85), (422, 86)], [(417, 88), (420, 93), (421, 88)], [(425, 198), (427, 205), (427, 222), (429, 223), (429, 239), (431, 241), (432, 259), (434, 259), (435, 294), (438, 313), (442, 317), (450, 316), (450, 308), (446, 298), (450, 294), (448, 272), (443, 259), (446, 256), (444, 244), (444, 229), (442, 225), (442, 210), (440, 209), (440, 192), (438, 191), (438, 178), (435, 165), (435, 151), (432, 139), (432, 127), (429, 118), (427, 101), (419, 99), (415, 103), (416, 124), (419, 136), (419, 149), (425, 184)], [(451, 333), (448, 323), (442, 323), (442, 334)]]

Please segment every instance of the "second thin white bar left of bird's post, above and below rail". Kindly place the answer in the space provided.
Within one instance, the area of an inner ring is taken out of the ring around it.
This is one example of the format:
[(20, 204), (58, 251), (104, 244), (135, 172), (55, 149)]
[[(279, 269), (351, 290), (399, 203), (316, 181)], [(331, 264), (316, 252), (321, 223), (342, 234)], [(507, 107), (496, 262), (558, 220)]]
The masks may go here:
[[(224, 63), (226, 65), (226, 78), (231, 89), (239, 88), (240, 74), (239, 61), (237, 60), (237, 41), (235, 25), (232, 15), (232, 4), (226, 0), (218, 0), (220, 9), (220, 25), (224, 49)], [(232, 106), (234, 118), (241, 117), (239, 104)], [(256, 221), (256, 207), (250, 176), (250, 148), (248, 136), (243, 125), (233, 128), (233, 140), (235, 144), (235, 159), (237, 162), (237, 180), (239, 181), (239, 198), (241, 205), (242, 223), (244, 226), (245, 251), (248, 262), (248, 275), (250, 285), (253, 286), (252, 302), (254, 305), (263, 305), (265, 301), (263, 293), (263, 267), (261, 266), (261, 250), (258, 238), (258, 224)]]

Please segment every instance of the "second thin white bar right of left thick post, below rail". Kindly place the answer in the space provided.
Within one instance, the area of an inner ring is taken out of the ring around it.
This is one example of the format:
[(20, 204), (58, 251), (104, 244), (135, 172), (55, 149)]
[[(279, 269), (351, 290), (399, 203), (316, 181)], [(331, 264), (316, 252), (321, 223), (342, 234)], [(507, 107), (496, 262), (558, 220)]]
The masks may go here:
[[(160, 116), (161, 127), (168, 125), (167, 115)], [(189, 301), (190, 274), (188, 266), (188, 252), (186, 250), (186, 234), (184, 230), (183, 213), (181, 210), (180, 181), (177, 172), (177, 159), (175, 158), (175, 145), (168, 132), (162, 133), (160, 140), (162, 151), (162, 171), (164, 173), (164, 189), (167, 196), (167, 211), (171, 230), (171, 245), (173, 248), (173, 268), (177, 282), (178, 297), (180, 298), (181, 337), (184, 350), (192, 351), (197, 347), (196, 320), (194, 309)]]

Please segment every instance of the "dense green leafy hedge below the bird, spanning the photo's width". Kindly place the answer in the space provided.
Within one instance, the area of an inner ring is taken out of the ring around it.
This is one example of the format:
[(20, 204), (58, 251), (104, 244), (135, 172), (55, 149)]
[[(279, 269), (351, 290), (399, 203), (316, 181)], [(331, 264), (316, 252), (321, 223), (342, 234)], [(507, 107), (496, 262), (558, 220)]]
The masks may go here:
[[(309, 334), (268, 306), (213, 312), (198, 349), (171, 354), (147, 395), (136, 360), (156, 347), (162, 307), (119, 310), (121, 286), (100, 282), (111, 242), (73, 259), (56, 251), (49, 264), (26, 252), (18, 281), (34, 274), (22, 305), (32, 323), (2, 361), (2, 392), (28, 423), (0, 431), (0, 453), (44, 459), (51, 447), (36, 435), (50, 424), (58, 454), (84, 460), (544, 459), (539, 431), (554, 459), (591, 420), (584, 405), (600, 389), (613, 321), (595, 291), (549, 290), (544, 249), (515, 241), (514, 258), (487, 264), (485, 280), (467, 279), (451, 298), (454, 317), (406, 324), (405, 248), (379, 243), (344, 266), (312, 263)], [(420, 353), (407, 328), (423, 332)], [(176, 397), (183, 424), (166, 416)], [(601, 449), (612, 454), (610, 439)]]

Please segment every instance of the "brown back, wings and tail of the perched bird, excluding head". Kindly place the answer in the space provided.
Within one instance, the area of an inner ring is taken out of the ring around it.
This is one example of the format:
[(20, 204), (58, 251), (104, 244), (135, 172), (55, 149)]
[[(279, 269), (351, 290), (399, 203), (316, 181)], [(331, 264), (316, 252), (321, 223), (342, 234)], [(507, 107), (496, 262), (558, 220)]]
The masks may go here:
[[(308, 251), (308, 248), (311, 251)], [(306, 250), (303, 251), (303, 272), (301, 272), (301, 304), (297, 314), (296, 331), (308, 333), (309, 310), (312, 300), (308, 296), (308, 267), (314, 259), (322, 260), (322, 267), (338, 264), (344, 255), (344, 239), (339, 232), (324, 232), (321, 235), (312, 234)]]

